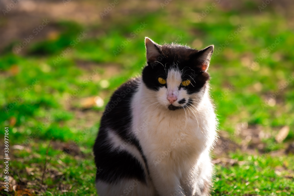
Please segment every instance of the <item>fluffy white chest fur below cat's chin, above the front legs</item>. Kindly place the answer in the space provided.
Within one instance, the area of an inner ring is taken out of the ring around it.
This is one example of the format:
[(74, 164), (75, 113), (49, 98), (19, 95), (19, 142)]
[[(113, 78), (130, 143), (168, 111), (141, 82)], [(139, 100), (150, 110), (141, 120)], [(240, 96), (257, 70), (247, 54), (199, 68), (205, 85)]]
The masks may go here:
[(195, 108), (171, 111), (144, 96), (153, 96), (154, 91), (143, 84), (139, 89), (132, 102), (132, 127), (149, 164), (160, 160), (161, 164), (181, 165), (211, 148), (216, 119), (208, 97)]

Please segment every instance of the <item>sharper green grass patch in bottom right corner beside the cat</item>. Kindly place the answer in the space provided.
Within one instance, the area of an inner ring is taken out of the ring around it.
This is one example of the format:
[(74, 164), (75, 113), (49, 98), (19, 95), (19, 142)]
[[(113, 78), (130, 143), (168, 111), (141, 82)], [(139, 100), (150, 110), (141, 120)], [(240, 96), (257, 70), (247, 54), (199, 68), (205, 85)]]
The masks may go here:
[[(230, 157), (244, 163), (229, 167), (216, 165), (212, 195), (293, 195), (293, 178), (288, 175), (293, 165), (285, 166), (293, 162), (293, 156), (238, 153)], [(281, 169), (278, 174), (277, 169)]]

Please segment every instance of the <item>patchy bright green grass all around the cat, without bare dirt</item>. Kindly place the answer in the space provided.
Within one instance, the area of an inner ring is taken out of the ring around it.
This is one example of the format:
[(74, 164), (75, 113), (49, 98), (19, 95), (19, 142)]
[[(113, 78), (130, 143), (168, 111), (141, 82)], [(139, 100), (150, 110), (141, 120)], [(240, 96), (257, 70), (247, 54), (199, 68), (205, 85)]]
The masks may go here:
[[(5, 49), (0, 57), (0, 127), (10, 128), (11, 147), (26, 147), (12, 151), (11, 172), (19, 184), (31, 182), (24, 187), (41, 190), (41, 195), (96, 194), (91, 152), (101, 112), (119, 85), (140, 74), (146, 61), (145, 36), (158, 43), (178, 39), (178, 43), (198, 49), (215, 45), (209, 68), (211, 96), (216, 103), (219, 129), (226, 131), (235, 143), (241, 145), (244, 139), (234, 136), (236, 125), (244, 122), (269, 133), (261, 141), (264, 152), (285, 149), (293, 142), (291, 19), (282, 17), (271, 4), (260, 13), (255, 1), (241, 1), (242, 8), (229, 11), (217, 4), (199, 21), (197, 16), (211, 3), (194, 4), (171, 1), (164, 9), (158, 4), (153, 12), (110, 17), (97, 25), (52, 21), (50, 25), (59, 29), (56, 38), (28, 44), (25, 55)], [(115, 9), (124, 6), (127, 5), (121, 3)], [(147, 26), (137, 35), (132, 34), (141, 22)], [(239, 25), (244, 27), (240, 32)], [(87, 35), (71, 44), (83, 31)], [(238, 33), (233, 37), (235, 31)], [(126, 42), (127, 38), (131, 41)], [(280, 38), (278, 44), (267, 50), (276, 38)], [(123, 43), (127, 45), (114, 55), (113, 51)], [(60, 58), (68, 47), (68, 54)], [(263, 53), (265, 57), (260, 60)], [(254, 61), (260, 62), (253, 64)], [(101, 85), (101, 80), (108, 81), (109, 86)], [(91, 96), (103, 98), (104, 105), (85, 109), (82, 100)], [(270, 96), (274, 103), (268, 102)], [(274, 137), (285, 125), (290, 127), (290, 133), (278, 144)], [(3, 129), (0, 134), (4, 134)], [(48, 148), (50, 140), (73, 141), (81, 152), (73, 156), (52, 145)], [(293, 195), (293, 155), (255, 154), (230, 149), (225, 156), (243, 164), (216, 164), (212, 195)], [(46, 188), (39, 185), (45, 158)], [(26, 168), (34, 168), (33, 175)], [(279, 175), (277, 168), (283, 168)], [(4, 191), (0, 194), (4, 195)]]

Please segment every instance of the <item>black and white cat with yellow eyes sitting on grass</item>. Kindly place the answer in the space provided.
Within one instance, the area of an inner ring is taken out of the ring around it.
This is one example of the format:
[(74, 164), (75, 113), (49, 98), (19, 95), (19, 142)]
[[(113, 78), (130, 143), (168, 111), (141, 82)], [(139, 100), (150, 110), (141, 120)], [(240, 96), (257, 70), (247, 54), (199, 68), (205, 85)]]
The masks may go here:
[(142, 76), (121, 85), (94, 144), (100, 196), (209, 195), (217, 120), (202, 50), (145, 38)]

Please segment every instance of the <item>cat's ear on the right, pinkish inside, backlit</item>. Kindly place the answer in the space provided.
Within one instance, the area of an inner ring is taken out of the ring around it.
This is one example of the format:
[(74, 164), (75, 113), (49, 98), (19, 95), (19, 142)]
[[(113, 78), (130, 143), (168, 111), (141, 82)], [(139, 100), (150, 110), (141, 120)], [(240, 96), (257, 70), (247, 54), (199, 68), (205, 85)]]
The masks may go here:
[(213, 53), (214, 46), (208, 46), (202, 50), (199, 50), (196, 54), (193, 55), (194, 60), (197, 61), (197, 65), (202, 71), (207, 71), (210, 63), (210, 59)]

